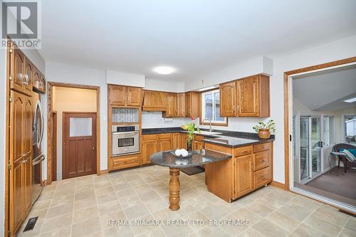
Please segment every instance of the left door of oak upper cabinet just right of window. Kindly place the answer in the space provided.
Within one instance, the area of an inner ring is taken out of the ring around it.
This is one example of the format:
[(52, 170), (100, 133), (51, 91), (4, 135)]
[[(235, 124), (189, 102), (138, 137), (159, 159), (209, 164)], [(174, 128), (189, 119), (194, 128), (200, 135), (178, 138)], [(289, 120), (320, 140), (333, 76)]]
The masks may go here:
[(236, 82), (220, 85), (220, 116), (236, 117)]

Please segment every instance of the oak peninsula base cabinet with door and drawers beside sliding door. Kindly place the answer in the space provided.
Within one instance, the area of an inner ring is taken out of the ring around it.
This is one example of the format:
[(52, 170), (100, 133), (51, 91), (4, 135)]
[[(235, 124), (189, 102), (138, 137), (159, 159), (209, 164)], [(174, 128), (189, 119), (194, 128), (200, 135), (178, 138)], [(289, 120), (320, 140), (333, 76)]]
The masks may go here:
[(208, 190), (225, 201), (238, 199), (273, 180), (273, 143), (224, 147), (206, 143), (205, 149), (231, 154), (233, 158), (205, 165)]

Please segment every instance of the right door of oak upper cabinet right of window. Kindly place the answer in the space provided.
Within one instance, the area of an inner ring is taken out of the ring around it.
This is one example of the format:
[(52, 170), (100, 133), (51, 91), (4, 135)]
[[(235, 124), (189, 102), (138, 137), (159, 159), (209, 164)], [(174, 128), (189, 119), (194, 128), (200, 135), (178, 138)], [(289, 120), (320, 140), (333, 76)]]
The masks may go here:
[(258, 116), (258, 76), (245, 78), (237, 81), (239, 92), (238, 115), (239, 117), (256, 117)]

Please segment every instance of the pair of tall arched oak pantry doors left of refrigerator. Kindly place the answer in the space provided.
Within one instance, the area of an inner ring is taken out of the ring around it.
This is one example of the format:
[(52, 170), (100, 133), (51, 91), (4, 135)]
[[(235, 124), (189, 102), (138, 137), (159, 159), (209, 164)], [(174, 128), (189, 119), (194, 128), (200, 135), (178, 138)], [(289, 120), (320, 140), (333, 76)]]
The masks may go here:
[(11, 90), (10, 103), (10, 230), (15, 233), (31, 207), (33, 104)]

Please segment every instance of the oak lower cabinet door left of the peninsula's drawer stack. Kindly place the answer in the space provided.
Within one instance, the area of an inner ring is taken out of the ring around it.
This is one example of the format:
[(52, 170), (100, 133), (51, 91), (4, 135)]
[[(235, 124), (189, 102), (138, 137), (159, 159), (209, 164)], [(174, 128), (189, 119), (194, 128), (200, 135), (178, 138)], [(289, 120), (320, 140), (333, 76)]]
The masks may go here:
[(253, 190), (252, 155), (235, 158), (235, 192), (234, 198)]

